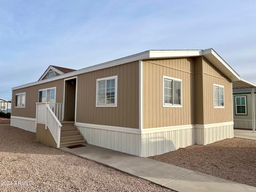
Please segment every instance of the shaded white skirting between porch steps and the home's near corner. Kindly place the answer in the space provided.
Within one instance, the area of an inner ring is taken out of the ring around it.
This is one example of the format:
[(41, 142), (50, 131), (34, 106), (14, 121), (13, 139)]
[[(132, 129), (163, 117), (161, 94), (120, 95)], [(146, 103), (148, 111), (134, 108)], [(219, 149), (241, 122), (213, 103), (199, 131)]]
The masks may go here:
[(141, 135), (135, 133), (78, 126), (87, 143), (123, 153), (141, 156)]

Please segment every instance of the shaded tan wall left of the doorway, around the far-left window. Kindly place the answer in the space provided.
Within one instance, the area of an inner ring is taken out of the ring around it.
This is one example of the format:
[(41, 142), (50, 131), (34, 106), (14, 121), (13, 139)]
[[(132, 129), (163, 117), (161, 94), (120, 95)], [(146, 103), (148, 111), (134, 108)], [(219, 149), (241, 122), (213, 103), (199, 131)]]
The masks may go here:
[[(38, 102), (38, 91), (50, 87), (56, 87), (56, 102), (63, 102), (64, 80), (43, 83), (12, 91), (12, 116), (36, 118), (36, 102)], [(15, 94), (26, 92), (25, 108), (15, 108)]]

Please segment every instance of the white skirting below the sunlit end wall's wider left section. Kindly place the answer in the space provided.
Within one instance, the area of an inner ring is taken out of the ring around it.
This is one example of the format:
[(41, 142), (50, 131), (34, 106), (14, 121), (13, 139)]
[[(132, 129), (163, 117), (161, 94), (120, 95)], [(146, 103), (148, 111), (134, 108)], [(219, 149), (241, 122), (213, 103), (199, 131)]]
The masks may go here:
[(142, 157), (164, 154), (195, 144), (195, 129), (173, 129), (142, 134)]

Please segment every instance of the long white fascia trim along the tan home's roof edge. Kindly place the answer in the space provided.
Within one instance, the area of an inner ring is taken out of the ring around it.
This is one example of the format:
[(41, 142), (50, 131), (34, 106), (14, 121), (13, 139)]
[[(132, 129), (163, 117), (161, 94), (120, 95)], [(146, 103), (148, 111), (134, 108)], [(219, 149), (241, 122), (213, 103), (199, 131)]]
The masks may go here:
[[(76, 76), (79, 74), (88, 73), (90, 71), (95, 71), (99, 69), (114, 67), (118, 65), (122, 65), (124, 63), (145, 60), (145, 59), (157, 59), (157, 58), (178, 58), (178, 57), (197, 57), (203, 55), (207, 60), (212, 62), (212, 64), (217, 67), (224, 75), (231, 79), (231, 81), (240, 81), (241, 78), (239, 75), (226, 63), (213, 49), (206, 50), (165, 50), (165, 51), (154, 51), (149, 50), (137, 54), (133, 54), (124, 58), (116, 59), (113, 61), (108, 61), (104, 63), (100, 63), (98, 65), (94, 65), (91, 67), (86, 67), (83, 69), (79, 69), (67, 74), (62, 74), (56, 77), (52, 77), (49, 79), (43, 79), (42, 81), (37, 81), (33, 83), (28, 83), (25, 85), (20, 85), (17, 87), (13, 87), (12, 90), (21, 89), (28, 86), (43, 84), (51, 81), (56, 81), (62, 78), (68, 78), (71, 76)], [(244, 80), (243, 80), (244, 81)], [(250, 82), (249, 82), (250, 83)], [(252, 84), (252, 83), (251, 83)], [(255, 84), (253, 84), (255, 85)]]

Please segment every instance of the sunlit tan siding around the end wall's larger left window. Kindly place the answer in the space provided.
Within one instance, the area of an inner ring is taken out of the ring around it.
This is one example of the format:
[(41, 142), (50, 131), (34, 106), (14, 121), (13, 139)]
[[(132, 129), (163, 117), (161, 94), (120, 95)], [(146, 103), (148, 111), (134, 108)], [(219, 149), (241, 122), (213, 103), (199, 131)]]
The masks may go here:
[[(194, 124), (193, 58), (143, 61), (143, 129)], [(182, 79), (182, 107), (163, 107), (163, 76)]]

